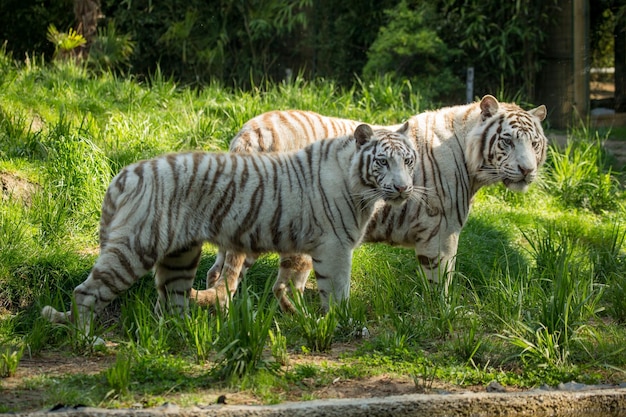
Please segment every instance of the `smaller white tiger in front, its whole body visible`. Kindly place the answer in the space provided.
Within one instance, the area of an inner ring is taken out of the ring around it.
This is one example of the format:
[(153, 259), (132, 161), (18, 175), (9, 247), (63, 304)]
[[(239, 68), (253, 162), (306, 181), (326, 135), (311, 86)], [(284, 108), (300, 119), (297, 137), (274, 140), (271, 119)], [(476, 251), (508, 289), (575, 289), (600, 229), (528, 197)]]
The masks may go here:
[(243, 258), (309, 254), (322, 304), (348, 298), (352, 252), (375, 203), (413, 196), (407, 130), (360, 125), (292, 153), (182, 153), (127, 166), (106, 192), (100, 256), (74, 290), (75, 309), (42, 315), (89, 334), (92, 315), (153, 268), (158, 311), (182, 314), (206, 241)]

